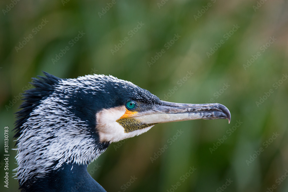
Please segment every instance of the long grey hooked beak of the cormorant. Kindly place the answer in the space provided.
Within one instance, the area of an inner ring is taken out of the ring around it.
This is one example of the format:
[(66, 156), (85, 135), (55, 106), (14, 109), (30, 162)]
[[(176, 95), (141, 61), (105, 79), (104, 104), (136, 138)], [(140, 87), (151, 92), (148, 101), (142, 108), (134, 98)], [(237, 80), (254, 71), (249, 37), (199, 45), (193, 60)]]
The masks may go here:
[(161, 101), (160, 104), (133, 117), (144, 124), (187, 121), (193, 119), (228, 119), (231, 114), (227, 107), (219, 103), (184, 104)]

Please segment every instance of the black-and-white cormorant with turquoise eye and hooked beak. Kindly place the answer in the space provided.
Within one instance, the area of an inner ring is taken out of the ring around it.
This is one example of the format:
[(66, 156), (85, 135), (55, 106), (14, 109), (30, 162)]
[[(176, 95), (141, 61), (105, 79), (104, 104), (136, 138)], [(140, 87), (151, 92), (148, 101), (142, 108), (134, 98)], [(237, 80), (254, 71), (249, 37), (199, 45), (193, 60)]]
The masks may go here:
[(105, 191), (87, 166), (111, 142), (147, 132), (157, 123), (228, 119), (217, 103), (182, 104), (113, 76), (60, 79), (43, 72), (16, 113), (16, 176), (22, 191)]

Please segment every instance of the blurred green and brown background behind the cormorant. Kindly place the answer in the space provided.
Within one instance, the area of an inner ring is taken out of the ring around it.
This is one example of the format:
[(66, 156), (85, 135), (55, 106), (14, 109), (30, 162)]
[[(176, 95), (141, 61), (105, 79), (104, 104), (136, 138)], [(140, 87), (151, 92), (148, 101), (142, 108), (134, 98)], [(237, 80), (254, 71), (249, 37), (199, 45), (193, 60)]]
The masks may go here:
[(88, 166), (108, 192), (288, 191), (287, 1), (5, 0), (0, 7), (0, 191), (18, 191), (14, 113), (41, 71), (113, 75), (162, 100), (230, 110), (230, 124), (158, 124), (112, 143)]

